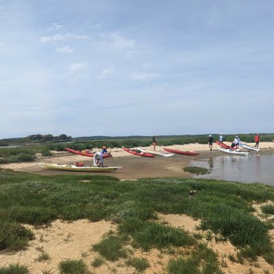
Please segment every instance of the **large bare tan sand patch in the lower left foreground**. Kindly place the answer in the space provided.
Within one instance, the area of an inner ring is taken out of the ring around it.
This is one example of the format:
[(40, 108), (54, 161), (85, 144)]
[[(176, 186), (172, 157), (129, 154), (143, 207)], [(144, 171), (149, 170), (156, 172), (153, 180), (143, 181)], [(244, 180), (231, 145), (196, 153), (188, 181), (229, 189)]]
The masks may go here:
[[(27, 225), (35, 234), (35, 239), (29, 242), (29, 247), (25, 251), (16, 253), (0, 253), (0, 265), (5, 266), (18, 262), (26, 264), (32, 274), (41, 274), (42, 269), (52, 269), (53, 273), (57, 271), (58, 263), (66, 258), (92, 259), (95, 254), (90, 253), (90, 247), (103, 238), (104, 234), (116, 226), (110, 222), (99, 221), (91, 223), (88, 220), (78, 220), (63, 222), (54, 221), (51, 226), (35, 229)], [(41, 254), (37, 249), (42, 248), (49, 256), (50, 260), (46, 262), (37, 262)], [(91, 260), (88, 260), (90, 264)]]

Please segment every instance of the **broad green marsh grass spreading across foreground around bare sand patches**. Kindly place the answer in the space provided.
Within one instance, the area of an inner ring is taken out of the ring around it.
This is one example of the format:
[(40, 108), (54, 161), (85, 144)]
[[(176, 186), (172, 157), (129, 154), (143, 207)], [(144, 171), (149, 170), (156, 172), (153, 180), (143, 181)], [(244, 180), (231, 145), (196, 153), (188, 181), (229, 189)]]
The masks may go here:
[[(190, 195), (191, 190), (196, 190), (195, 195)], [(119, 233), (108, 236), (93, 249), (107, 260), (127, 258), (123, 247), (126, 242), (144, 251), (195, 246), (196, 251), (189, 258), (171, 260), (166, 271), (200, 273), (199, 264), (208, 260), (203, 266), (209, 269), (201, 273), (221, 273), (216, 254), (198, 244), (194, 236), (155, 221), (155, 212), (184, 213), (201, 219), (201, 229), (210, 229), (229, 239), (240, 249), (238, 260), (262, 256), (274, 265), (274, 250), (267, 233), (272, 224), (251, 214), (251, 203), (268, 200), (274, 201), (274, 188), (263, 184), (184, 178), (119, 182), (110, 176), (43, 177), (0, 169), (0, 250), (27, 246), (33, 234), (22, 223), (44, 225), (55, 219), (106, 219), (119, 224)], [(273, 214), (273, 209), (268, 208), (268, 212)], [(113, 251), (109, 253), (110, 247)], [(130, 258), (128, 262), (146, 264)], [(188, 265), (193, 266), (192, 272)], [(0, 273), (5, 272), (0, 268)]]

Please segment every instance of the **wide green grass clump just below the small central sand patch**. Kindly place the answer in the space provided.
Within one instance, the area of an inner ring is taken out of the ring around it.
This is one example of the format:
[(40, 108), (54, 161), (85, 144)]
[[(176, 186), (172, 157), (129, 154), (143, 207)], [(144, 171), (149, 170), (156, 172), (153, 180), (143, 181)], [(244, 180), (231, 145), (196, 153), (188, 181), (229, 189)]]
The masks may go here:
[(183, 229), (136, 218), (127, 219), (122, 223), (120, 232), (130, 234), (136, 245), (145, 251), (153, 247), (163, 249), (169, 246), (190, 246), (196, 242), (195, 238)]

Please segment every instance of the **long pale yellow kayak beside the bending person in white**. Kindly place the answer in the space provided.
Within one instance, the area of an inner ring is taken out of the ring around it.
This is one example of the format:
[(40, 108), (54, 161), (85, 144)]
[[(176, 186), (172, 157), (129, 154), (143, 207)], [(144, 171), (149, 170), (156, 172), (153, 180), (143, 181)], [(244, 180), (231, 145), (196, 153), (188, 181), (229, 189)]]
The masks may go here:
[(51, 171), (112, 172), (123, 166), (75, 166), (75, 164), (42, 164), (43, 169)]

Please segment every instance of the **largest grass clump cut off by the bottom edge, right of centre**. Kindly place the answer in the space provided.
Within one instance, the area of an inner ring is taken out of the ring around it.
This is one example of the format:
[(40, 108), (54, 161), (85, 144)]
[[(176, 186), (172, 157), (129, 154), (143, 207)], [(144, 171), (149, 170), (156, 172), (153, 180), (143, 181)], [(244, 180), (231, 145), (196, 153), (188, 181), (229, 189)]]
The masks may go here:
[(168, 274), (222, 274), (216, 253), (206, 245), (198, 245), (187, 258), (169, 260)]

